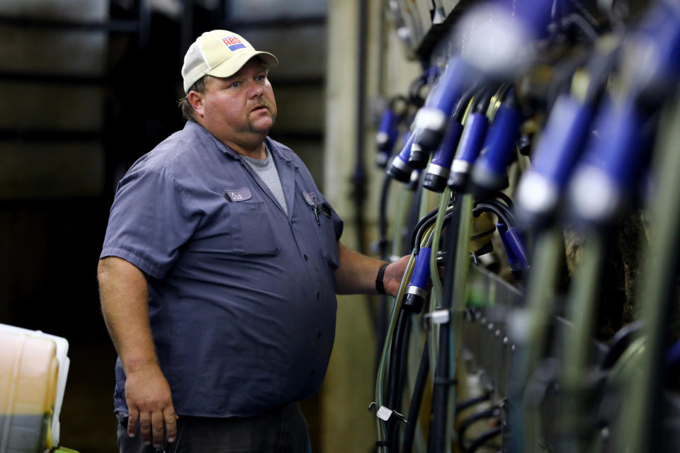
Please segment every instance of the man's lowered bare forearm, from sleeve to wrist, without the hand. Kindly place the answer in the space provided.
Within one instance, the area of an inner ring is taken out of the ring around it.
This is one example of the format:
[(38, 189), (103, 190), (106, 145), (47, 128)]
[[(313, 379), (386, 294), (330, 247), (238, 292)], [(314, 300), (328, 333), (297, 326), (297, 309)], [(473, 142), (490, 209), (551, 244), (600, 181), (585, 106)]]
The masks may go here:
[(149, 328), (147, 280), (138, 268), (108, 257), (97, 268), (101, 311), (125, 372), (156, 364)]

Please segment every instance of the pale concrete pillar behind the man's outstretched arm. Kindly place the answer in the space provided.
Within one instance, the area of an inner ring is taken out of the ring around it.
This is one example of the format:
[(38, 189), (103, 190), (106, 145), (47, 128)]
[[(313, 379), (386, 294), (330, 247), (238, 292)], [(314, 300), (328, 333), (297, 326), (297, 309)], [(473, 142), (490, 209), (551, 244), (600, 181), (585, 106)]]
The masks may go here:
[[(341, 242), (356, 246), (351, 175), (355, 165), (358, 5), (362, 0), (329, 0), (324, 195), (343, 217)], [(405, 58), (395, 30), (385, 21), (385, 1), (368, 1), (368, 66), (363, 137), (368, 172), (365, 217), (368, 240), (376, 222), (382, 170), (375, 162), (375, 105), (385, 93), (403, 93), (419, 74)], [(376, 298), (377, 299), (377, 298)], [(371, 302), (375, 304), (375, 301)], [(331, 363), (322, 388), (322, 452), (370, 452), (375, 446), (375, 415), (368, 412), (375, 386), (375, 336), (366, 298), (338, 298), (338, 323)]]

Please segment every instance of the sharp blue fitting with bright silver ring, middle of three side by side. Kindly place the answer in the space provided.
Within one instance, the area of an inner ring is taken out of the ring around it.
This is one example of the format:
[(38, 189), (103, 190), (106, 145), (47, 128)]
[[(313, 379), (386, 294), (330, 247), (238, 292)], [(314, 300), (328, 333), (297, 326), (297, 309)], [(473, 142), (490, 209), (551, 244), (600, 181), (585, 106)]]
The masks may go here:
[(463, 137), (460, 138), (458, 154), (451, 163), (448, 186), (452, 190), (465, 190), (470, 169), (480, 155), (489, 128), (489, 120), (481, 113), (471, 113), (465, 122)]

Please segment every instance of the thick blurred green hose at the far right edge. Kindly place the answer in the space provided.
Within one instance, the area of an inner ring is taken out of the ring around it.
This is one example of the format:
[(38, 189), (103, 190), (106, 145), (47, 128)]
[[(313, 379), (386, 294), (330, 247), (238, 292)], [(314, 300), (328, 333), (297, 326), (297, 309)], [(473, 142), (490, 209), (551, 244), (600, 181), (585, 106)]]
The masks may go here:
[[(647, 348), (640, 357), (635, 385), (628, 386), (621, 408), (623, 447), (629, 453), (649, 451), (653, 420), (662, 411), (661, 376), (664, 359), (664, 337), (668, 331), (668, 304), (672, 300), (676, 255), (680, 246), (680, 102), (665, 110), (659, 127), (655, 157), (657, 194), (650, 209), (650, 247), (642, 266), (642, 283), (638, 294), (642, 319), (641, 335), (647, 338)], [(657, 438), (653, 439), (658, 441)]]

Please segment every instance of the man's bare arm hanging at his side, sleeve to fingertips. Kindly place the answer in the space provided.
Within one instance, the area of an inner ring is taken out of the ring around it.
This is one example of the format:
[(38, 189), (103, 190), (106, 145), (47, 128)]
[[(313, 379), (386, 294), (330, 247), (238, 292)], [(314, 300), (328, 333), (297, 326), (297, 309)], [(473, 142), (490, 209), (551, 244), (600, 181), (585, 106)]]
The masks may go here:
[(149, 328), (149, 295), (145, 275), (135, 265), (113, 256), (99, 260), (97, 268), (101, 311), (125, 369), (128, 435), (137, 432), (154, 447), (176, 435), (176, 415), (170, 386), (157, 362)]

